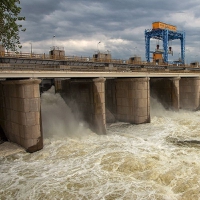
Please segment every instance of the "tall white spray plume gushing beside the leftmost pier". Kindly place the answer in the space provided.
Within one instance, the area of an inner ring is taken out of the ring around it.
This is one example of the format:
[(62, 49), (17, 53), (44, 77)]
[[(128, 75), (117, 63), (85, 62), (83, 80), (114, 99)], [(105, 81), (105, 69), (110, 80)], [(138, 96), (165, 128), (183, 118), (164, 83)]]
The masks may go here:
[(75, 119), (73, 113), (60, 94), (55, 94), (54, 86), (52, 86), (48, 92), (43, 93), (41, 99), (42, 123), (45, 139), (82, 137), (92, 134), (86, 123)]

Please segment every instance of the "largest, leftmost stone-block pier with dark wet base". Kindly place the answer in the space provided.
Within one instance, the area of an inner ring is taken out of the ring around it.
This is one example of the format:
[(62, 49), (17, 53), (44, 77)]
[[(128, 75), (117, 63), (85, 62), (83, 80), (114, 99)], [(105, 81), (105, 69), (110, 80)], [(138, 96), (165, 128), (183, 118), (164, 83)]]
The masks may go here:
[(43, 148), (39, 79), (2, 81), (0, 124), (7, 139), (28, 152)]

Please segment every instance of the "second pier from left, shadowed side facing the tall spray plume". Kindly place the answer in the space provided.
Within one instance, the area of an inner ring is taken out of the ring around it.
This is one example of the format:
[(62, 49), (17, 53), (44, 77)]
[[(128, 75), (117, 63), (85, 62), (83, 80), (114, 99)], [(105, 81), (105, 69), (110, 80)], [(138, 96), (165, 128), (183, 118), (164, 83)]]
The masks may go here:
[(105, 79), (65, 80), (62, 90), (75, 116), (86, 121), (98, 134), (105, 134)]

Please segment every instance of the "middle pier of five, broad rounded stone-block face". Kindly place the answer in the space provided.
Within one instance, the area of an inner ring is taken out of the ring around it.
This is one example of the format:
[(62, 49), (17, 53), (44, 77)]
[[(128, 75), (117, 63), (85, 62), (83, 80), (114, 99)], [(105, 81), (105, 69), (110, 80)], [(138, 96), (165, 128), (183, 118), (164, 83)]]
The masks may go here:
[(149, 123), (149, 78), (116, 79), (116, 101), (119, 121)]

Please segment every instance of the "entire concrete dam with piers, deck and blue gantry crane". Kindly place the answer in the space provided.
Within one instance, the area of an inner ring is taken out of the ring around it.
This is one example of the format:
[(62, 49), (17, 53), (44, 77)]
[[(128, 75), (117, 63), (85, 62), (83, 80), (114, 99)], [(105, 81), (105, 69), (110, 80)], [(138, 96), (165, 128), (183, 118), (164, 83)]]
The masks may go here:
[[(158, 36), (164, 51), (157, 45), (150, 62), (150, 39)], [(168, 62), (168, 54), (173, 53), (171, 46), (168, 50), (168, 37), (181, 40), (178, 62)], [(147, 62), (138, 56), (112, 59), (109, 52), (100, 51), (90, 58), (65, 56), (64, 50), (56, 47), (49, 55), (6, 52), (1, 47), (1, 135), (27, 152), (43, 148), (41, 86), (45, 80), (55, 85), (55, 92), (66, 103), (73, 102), (75, 106), (69, 104), (72, 112), (78, 110), (98, 134), (106, 134), (110, 122), (150, 123), (150, 97), (166, 109), (198, 110), (200, 68), (198, 63), (185, 64), (185, 34), (174, 26), (155, 23), (151, 31), (146, 30), (145, 38)]]

